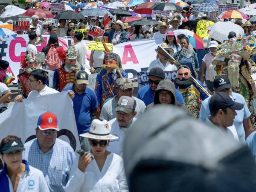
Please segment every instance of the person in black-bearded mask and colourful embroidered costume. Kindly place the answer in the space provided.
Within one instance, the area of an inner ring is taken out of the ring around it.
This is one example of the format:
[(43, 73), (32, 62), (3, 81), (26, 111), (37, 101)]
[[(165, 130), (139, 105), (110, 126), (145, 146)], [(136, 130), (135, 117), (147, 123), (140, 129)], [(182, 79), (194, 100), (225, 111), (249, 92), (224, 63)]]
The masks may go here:
[[(197, 80), (204, 87), (201, 81)], [(189, 67), (181, 65), (178, 67), (178, 78), (175, 80), (176, 88), (183, 96), (185, 106), (189, 108), (194, 117), (198, 117), (201, 102), (208, 96), (205, 95), (194, 83)]]

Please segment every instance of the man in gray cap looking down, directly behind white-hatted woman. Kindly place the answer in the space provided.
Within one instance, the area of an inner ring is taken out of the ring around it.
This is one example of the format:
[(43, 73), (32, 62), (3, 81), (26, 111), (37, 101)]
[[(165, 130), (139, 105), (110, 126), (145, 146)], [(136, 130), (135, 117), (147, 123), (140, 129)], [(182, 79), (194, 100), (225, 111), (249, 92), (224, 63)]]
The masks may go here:
[(123, 143), (125, 142), (126, 134), (131, 125), (137, 120), (136, 116), (136, 101), (134, 98), (122, 96), (119, 98), (116, 108), (116, 118), (108, 122), (111, 128), (110, 133), (117, 135), (119, 138), (110, 140), (108, 151), (122, 156)]

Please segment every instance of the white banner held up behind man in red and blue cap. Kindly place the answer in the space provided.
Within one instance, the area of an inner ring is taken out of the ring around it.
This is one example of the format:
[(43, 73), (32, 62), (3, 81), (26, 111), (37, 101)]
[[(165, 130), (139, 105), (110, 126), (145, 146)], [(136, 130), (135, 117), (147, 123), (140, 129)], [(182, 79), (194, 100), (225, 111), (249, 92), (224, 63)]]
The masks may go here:
[(15, 102), (0, 114), (0, 141), (7, 135), (20, 137), (23, 143), (32, 140), (38, 117), (47, 111), (57, 116), (57, 137), (70, 143), (74, 150), (80, 149), (72, 99), (67, 91)]

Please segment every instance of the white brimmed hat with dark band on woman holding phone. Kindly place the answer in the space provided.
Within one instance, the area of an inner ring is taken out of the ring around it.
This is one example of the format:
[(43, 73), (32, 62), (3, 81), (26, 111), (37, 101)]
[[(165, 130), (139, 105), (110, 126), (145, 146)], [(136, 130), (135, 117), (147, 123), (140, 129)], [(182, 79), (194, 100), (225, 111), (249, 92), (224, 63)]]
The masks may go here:
[(81, 137), (87, 137), (96, 140), (116, 140), (119, 137), (110, 134), (110, 128), (106, 120), (94, 119), (88, 133), (80, 134)]

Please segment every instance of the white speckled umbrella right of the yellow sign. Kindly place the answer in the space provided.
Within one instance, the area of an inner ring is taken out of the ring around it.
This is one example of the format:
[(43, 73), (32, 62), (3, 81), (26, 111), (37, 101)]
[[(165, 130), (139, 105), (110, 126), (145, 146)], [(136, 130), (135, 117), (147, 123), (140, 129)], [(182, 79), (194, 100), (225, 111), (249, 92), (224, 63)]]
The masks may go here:
[(214, 25), (208, 27), (209, 36), (217, 41), (223, 42), (227, 40), (229, 32), (233, 31), (236, 36), (244, 35), (244, 29), (230, 21), (218, 21)]

